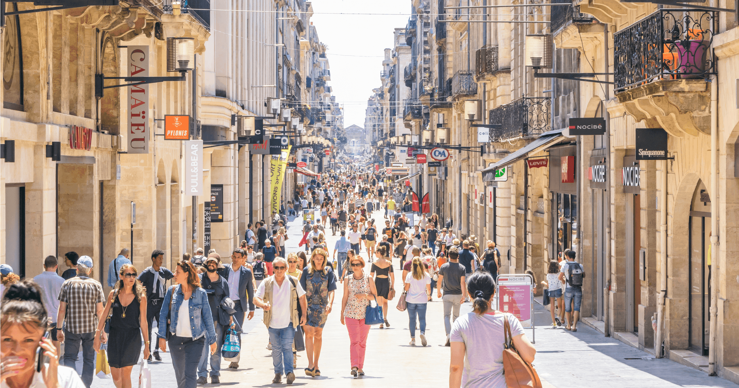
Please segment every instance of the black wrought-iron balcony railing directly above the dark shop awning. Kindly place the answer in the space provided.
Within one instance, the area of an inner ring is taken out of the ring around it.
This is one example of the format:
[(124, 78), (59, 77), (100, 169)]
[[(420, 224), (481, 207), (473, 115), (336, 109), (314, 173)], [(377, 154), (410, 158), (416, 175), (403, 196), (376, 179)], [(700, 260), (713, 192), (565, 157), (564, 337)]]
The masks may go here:
[(490, 109), (489, 118), (491, 124), (503, 124), (503, 129), (490, 132), (492, 141), (539, 135), (552, 128), (551, 98), (522, 97)]

